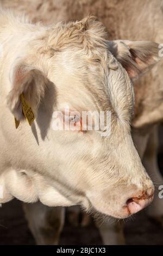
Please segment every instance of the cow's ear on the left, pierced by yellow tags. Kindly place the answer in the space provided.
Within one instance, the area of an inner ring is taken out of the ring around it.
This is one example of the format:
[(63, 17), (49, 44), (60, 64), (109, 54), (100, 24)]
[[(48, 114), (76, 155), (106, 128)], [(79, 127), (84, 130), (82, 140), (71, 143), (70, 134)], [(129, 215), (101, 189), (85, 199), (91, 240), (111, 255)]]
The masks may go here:
[(10, 70), (11, 90), (7, 97), (8, 107), (17, 120), (24, 118), (21, 95), (29, 102), (34, 113), (45, 95), (48, 79), (33, 66), (19, 63)]

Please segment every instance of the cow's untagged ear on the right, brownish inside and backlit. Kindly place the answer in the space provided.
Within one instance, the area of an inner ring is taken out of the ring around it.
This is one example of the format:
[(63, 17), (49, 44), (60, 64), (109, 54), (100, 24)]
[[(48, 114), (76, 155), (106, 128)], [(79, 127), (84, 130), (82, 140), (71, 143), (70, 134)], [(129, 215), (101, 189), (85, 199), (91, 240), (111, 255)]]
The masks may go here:
[(137, 80), (160, 59), (156, 42), (115, 40), (108, 41), (108, 47), (132, 80)]

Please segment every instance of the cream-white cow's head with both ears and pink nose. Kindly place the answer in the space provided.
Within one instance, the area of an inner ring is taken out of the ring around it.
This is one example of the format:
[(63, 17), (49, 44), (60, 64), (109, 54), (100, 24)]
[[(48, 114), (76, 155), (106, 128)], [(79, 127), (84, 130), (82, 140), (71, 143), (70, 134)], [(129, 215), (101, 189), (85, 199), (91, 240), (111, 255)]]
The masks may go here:
[[(154, 187), (130, 135), (132, 80), (158, 60), (158, 45), (106, 41), (103, 25), (89, 17), (41, 27), (24, 49), (10, 67), (8, 106), (21, 121), (14, 134), (21, 136), (26, 159), (18, 167), (25, 166), (41, 202), (80, 204), (118, 218), (144, 208)], [(35, 112), (32, 129), (23, 121), (22, 93)], [(56, 111), (63, 114), (61, 127), (68, 119), (74, 129), (54, 129)], [(91, 130), (83, 111), (92, 113), (93, 127), (95, 111), (109, 112), (108, 135), (107, 120), (104, 129)]]

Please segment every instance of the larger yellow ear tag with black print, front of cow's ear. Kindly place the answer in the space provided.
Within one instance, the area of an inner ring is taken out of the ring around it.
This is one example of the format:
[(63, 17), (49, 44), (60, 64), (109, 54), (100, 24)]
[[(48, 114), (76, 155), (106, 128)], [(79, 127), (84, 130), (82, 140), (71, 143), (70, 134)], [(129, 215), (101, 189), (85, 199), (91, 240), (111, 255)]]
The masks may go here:
[(22, 102), (23, 113), (24, 113), (29, 125), (32, 125), (33, 121), (35, 120), (35, 115), (33, 113), (33, 110), (29, 106), (28, 102), (24, 99), (23, 93), (20, 95), (20, 99)]

